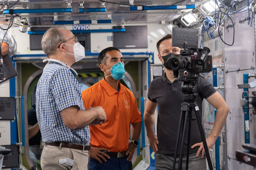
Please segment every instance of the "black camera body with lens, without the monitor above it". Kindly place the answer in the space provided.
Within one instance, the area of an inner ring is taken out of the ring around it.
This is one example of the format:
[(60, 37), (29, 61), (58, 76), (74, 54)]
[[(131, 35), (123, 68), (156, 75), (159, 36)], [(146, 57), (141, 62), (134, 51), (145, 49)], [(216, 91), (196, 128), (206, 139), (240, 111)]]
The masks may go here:
[[(199, 77), (199, 73), (212, 71), (212, 56), (208, 55), (210, 49), (207, 47), (191, 48), (180, 51), (180, 57), (173, 57), (170, 60), (170, 68), (179, 70), (180, 79), (183, 81), (193, 81)], [(178, 77), (174, 71), (174, 77)]]

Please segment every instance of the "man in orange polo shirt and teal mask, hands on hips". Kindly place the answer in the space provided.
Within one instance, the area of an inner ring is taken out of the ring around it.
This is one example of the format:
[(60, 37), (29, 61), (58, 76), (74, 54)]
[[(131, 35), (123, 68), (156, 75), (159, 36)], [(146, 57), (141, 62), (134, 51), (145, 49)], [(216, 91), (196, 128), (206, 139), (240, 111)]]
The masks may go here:
[(107, 119), (101, 126), (90, 126), (89, 170), (132, 170), (142, 115), (132, 92), (119, 82), (125, 73), (124, 57), (118, 48), (109, 47), (100, 52), (98, 61), (105, 77), (84, 90), (82, 98), (85, 109), (101, 106)]

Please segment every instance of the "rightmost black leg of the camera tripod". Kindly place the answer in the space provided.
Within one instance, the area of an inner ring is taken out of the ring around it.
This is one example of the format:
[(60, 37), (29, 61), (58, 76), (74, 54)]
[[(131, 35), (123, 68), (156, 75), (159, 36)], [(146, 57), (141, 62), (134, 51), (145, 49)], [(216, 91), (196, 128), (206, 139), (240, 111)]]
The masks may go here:
[(200, 119), (200, 116), (199, 116), (199, 112), (195, 110), (195, 113), (196, 113), (198, 128), (199, 128), (200, 135), (201, 135), (201, 138), (202, 138), (203, 147), (204, 147), (204, 151), (205, 151), (205, 154), (206, 154), (208, 166), (209, 166), (210, 170), (213, 170), (212, 161), (211, 161), (210, 153), (209, 153), (208, 146), (207, 146), (207, 143), (206, 143), (206, 139), (205, 139), (205, 136), (204, 136), (203, 126), (202, 126), (202, 123), (200, 121), (201, 119)]

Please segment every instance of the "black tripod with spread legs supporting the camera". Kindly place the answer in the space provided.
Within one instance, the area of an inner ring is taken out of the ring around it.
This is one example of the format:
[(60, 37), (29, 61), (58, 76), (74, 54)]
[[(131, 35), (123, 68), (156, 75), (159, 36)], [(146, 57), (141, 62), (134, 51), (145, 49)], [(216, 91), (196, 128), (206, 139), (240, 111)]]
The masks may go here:
[[(200, 131), (201, 139), (203, 142), (204, 151), (206, 154), (208, 166), (210, 170), (213, 170), (212, 162), (209, 154), (209, 150), (207, 147), (207, 143), (205, 140), (204, 132), (203, 132), (203, 126), (200, 122), (200, 116), (199, 116), (199, 107), (197, 106), (196, 101), (196, 94), (184, 94), (183, 95), (184, 103), (181, 104), (181, 116), (180, 116), (180, 122), (179, 122), (179, 128), (178, 128), (178, 134), (177, 134), (177, 141), (176, 141), (176, 148), (174, 153), (174, 160), (173, 160), (173, 166), (172, 169), (175, 170), (175, 163), (176, 163), (176, 157), (177, 157), (177, 151), (179, 147), (180, 142), (180, 134), (182, 133), (182, 141), (181, 141), (181, 151), (180, 151), (180, 159), (179, 159), (179, 165), (178, 170), (182, 169), (182, 155), (183, 155), (183, 145), (185, 140), (185, 134), (186, 134), (186, 128), (187, 128), (187, 122), (188, 122), (188, 143), (187, 143), (187, 159), (186, 159), (186, 170), (188, 170), (188, 158), (189, 158), (189, 142), (190, 142), (190, 129), (191, 129), (191, 121), (197, 120), (198, 128)], [(192, 109), (194, 109), (196, 118), (192, 118)]]

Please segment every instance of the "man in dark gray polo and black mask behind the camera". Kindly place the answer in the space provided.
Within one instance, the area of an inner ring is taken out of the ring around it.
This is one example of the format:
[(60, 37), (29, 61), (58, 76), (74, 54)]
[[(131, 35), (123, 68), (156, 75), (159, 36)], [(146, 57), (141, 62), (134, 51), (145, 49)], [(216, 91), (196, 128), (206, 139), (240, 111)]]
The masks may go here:
[[(176, 146), (177, 131), (179, 126), (181, 104), (184, 102), (183, 92), (181, 91), (181, 81), (177, 81), (173, 78), (173, 70), (166, 63), (169, 53), (180, 54), (180, 48), (172, 47), (171, 34), (166, 35), (160, 39), (157, 43), (158, 58), (165, 67), (165, 74), (153, 80), (150, 83), (148, 89), (148, 98), (146, 101), (144, 121), (147, 130), (147, 137), (150, 142), (150, 146), (156, 153), (156, 169), (157, 170), (170, 170), (173, 165), (173, 157)], [(206, 99), (215, 109), (217, 114), (213, 130), (209, 137), (206, 139), (208, 149), (211, 148), (226, 121), (229, 108), (222, 98), (222, 96), (213, 88), (212, 84), (202, 77), (198, 78), (197, 86), (197, 104), (200, 110), (200, 116), (202, 116), (202, 101)], [(155, 109), (158, 105), (158, 117), (157, 117), (157, 136), (154, 132), (155, 125)], [(192, 117), (195, 116), (195, 112), (192, 112)], [(200, 121), (200, 120), (199, 120)], [(187, 134), (183, 147), (183, 162), (182, 168), (186, 167), (186, 149), (187, 149)], [(180, 153), (180, 147), (178, 153)], [(204, 157), (203, 143), (201, 142), (201, 136), (197, 121), (191, 122), (191, 135), (190, 135), (190, 151), (189, 151), (189, 169), (205, 170), (206, 164)], [(199, 148), (198, 148), (199, 147)], [(198, 157), (201, 153), (201, 157)], [(176, 168), (178, 166), (179, 156), (176, 159)]]

